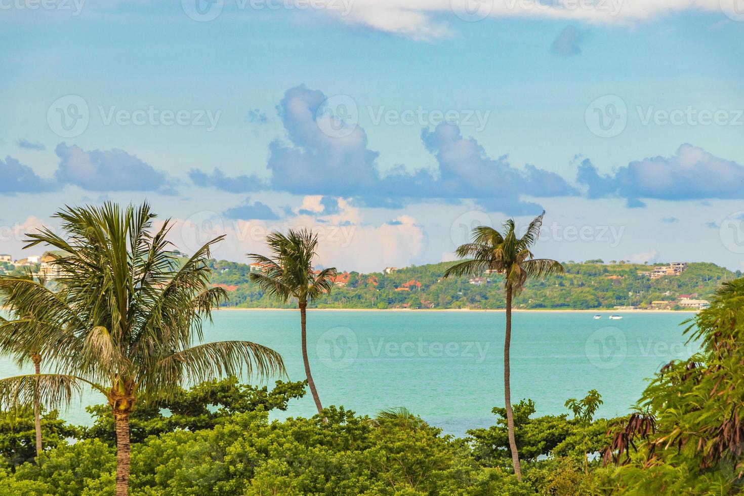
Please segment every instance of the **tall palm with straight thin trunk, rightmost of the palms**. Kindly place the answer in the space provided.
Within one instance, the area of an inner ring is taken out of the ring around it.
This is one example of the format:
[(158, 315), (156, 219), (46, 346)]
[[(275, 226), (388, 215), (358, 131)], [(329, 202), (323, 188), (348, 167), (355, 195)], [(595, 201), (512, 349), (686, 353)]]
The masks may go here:
[(461, 245), (455, 253), (464, 262), (448, 268), (444, 277), (452, 275), (481, 275), (484, 271), (497, 271), (504, 277), (506, 290), (507, 328), (504, 336), (504, 402), (507, 410), (507, 429), (509, 448), (512, 455), (514, 473), (522, 480), (522, 469), (519, 466), (519, 452), (514, 440), (514, 414), (511, 407), (509, 347), (511, 344), (512, 297), (522, 292), (528, 277), (541, 277), (548, 274), (559, 274), (563, 266), (555, 260), (534, 258), (530, 247), (539, 237), (542, 226), (542, 214), (535, 217), (522, 237), (516, 235), (514, 219), (504, 223), (504, 232), (481, 225), (472, 230), (472, 242)]

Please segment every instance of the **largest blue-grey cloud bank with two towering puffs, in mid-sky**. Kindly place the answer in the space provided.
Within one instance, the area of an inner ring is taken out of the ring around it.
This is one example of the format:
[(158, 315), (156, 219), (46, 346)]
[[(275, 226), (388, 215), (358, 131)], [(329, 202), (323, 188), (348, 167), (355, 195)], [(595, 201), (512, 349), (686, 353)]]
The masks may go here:
[[(440, 123), (424, 129), (426, 149), (439, 166), (409, 172), (396, 167), (387, 175), (379, 173), (378, 153), (369, 149), (361, 126), (344, 129), (341, 135), (327, 133), (332, 115), (325, 112), (326, 96), (305, 86), (290, 88), (278, 106), (289, 141), (277, 139), (269, 145), (267, 167), (272, 173), (268, 187), (296, 195), (317, 197), (318, 213), (334, 209), (332, 198), (353, 198), (366, 206), (401, 207), (422, 199), (477, 199), (491, 210), (514, 214), (533, 213), (540, 206), (523, 202), (525, 195), (569, 196), (577, 191), (555, 173), (527, 164), (513, 167), (507, 156), (490, 158), (473, 138), (464, 138), (455, 124)], [(334, 122), (334, 124), (337, 124)], [(195, 184), (211, 185), (240, 193), (263, 187), (255, 175), (227, 177), (215, 170), (208, 175), (192, 170)], [(319, 209), (319, 202), (324, 208)], [(307, 201), (307, 200), (306, 200)], [(303, 207), (301, 207), (302, 210)]]

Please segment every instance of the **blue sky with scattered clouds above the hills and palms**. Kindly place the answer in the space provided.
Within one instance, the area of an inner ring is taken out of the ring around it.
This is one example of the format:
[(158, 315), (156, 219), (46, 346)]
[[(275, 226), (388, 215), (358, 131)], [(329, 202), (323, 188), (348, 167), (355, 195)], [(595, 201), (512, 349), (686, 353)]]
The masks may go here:
[(148, 199), (185, 251), (379, 270), (545, 208), (539, 255), (742, 268), (740, 0), (77, 1), (0, 2), (0, 251)]

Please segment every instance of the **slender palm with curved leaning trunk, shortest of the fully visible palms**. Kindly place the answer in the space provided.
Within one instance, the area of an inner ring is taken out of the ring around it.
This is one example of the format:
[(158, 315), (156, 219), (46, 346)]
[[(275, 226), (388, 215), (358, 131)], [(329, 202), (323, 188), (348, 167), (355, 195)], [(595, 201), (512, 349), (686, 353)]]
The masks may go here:
[(323, 405), (315, 389), (315, 381), (310, 373), (310, 361), (307, 359), (307, 303), (333, 288), (336, 268), (326, 268), (315, 272), (312, 270), (312, 259), (318, 248), (318, 234), (307, 229), (292, 230), (286, 235), (278, 231), (266, 236), (266, 244), (272, 257), (259, 254), (248, 254), (251, 260), (260, 263), (260, 272), (252, 272), (251, 282), (257, 283), (270, 297), (283, 303), (296, 298), (300, 309), (300, 326), (302, 329), (302, 361), (305, 365), (307, 385), (318, 413), (323, 413)]

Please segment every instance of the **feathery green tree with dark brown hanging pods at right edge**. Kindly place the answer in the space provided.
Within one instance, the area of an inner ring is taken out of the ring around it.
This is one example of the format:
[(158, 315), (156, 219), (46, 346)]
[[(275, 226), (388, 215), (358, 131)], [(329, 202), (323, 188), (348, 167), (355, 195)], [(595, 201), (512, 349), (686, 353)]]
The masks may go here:
[(638, 412), (617, 425), (606, 461), (615, 489), (741, 492), (744, 477), (744, 280), (722, 285), (687, 329), (702, 352), (656, 374)]

